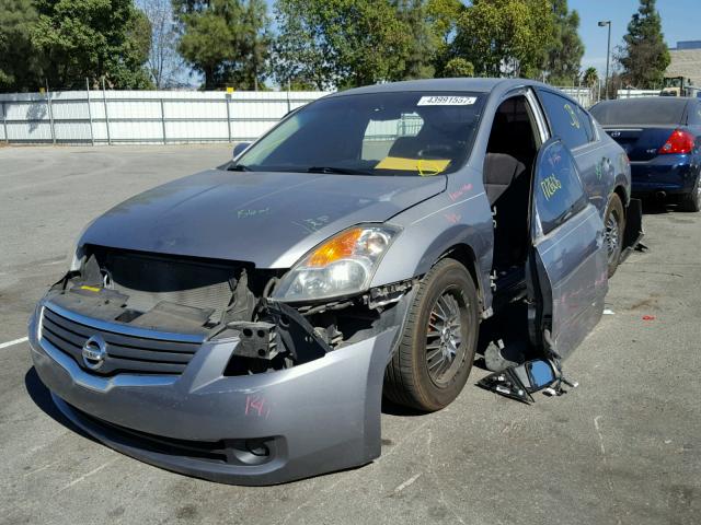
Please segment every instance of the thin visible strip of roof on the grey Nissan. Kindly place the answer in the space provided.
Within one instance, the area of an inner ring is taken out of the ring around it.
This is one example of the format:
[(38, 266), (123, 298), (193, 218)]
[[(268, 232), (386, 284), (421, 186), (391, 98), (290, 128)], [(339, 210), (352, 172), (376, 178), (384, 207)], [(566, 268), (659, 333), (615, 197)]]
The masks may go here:
[(366, 85), (364, 88), (341, 91), (331, 96), (357, 95), (365, 93), (392, 93), (401, 91), (469, 91), (473, 93), (490, 93), (497, 86), (503, 90), (508, 90), (522, 85), (540, 85), (552, 89), (552, 86), (528, 79), (423, 79)]

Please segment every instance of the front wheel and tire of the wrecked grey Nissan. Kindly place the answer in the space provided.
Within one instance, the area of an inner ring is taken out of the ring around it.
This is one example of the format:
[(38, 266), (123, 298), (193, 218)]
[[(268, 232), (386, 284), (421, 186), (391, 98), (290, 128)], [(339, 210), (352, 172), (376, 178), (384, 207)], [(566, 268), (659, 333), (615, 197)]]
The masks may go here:
[[(440, 320), (438, 312), (446, 314), (443, 308), (450, 307), (457, 315)], [(458, 397), (467, 383), (478, 342), (478, 294), (466, 267), (455, 259), (438, 261), (418, 284), (406, 315), (399, 348), (384, 372), (383, 394), (399, 405), (439, 410)], [(450, 318), (459, 319), (459, 326)], [(460, 337), (457, 345), (453, 336)], [(456, 350), (452, 360), (451, 349)], [(438, 359), (443, 364), (436, 364)], [(445, 374), (439, 374), (446, 365)]]

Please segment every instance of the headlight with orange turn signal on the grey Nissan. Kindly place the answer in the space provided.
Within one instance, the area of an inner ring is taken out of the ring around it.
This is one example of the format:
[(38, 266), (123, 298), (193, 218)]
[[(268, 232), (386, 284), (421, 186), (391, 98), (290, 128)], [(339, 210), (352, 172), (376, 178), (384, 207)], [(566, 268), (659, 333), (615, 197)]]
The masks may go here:
[(324, 241), (289, 270), (273, 293), (279, 301), (317, 301), (367, 290), (400, 230), (364, 225)]

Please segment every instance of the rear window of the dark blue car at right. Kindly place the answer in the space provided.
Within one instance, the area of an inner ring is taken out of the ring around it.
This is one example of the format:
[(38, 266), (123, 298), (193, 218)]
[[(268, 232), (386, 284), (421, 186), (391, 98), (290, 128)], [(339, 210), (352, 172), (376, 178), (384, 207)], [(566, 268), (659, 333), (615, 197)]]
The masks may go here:
[(680, 98), (651, 97), (625, 101), (605, 101), (589, 109), (601, 125), (675, 125), (680, 124), (687, 101)]

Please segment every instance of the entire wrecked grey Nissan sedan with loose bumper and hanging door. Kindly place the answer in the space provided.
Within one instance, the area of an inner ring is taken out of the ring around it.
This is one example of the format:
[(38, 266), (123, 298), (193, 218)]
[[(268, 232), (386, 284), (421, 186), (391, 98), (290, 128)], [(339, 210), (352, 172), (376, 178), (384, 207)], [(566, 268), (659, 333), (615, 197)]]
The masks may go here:
[(285, 482), (378, 457), (382, 396), (451, 402), (509, 303), (518, 342), (565, 358), (640, 229), (622, 150), (552, 88), (350, 90), (92, 222), (32, 316), (32, 359), (115, 450)]

